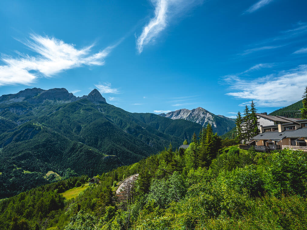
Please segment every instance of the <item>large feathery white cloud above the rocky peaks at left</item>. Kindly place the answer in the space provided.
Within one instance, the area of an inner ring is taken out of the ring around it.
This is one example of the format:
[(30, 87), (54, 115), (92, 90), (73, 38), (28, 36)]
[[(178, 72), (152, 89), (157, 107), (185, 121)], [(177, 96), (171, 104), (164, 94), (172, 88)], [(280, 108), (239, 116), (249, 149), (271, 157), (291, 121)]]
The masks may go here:
[(0, 66), (0, 86), (30, 84), (39, 76), (51, 77), (57, 73), (80, 67), (82, 65), (103, 65), (105, 57), (114, 46), (91, 53), (93, 45), (77, 49), (73, 44), (49, 36), (30, 34), (29, 40), (23, 42), (37, 56), (20, 54), (12, 57), (2, 54)]

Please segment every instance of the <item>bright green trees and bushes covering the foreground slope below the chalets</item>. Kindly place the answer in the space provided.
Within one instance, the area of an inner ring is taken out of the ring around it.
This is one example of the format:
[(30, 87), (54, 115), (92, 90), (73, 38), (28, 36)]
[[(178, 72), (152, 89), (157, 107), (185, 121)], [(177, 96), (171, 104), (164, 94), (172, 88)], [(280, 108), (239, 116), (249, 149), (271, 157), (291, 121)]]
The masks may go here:
[[(306, 152), (218, 150), (205, 130), (185, 151), (172, 146), (99, 177), (75, 199), (73, 178), (0, 202), (1, 229), (305, 229)], [(111, 186), (139, 173), (129, 197)]]

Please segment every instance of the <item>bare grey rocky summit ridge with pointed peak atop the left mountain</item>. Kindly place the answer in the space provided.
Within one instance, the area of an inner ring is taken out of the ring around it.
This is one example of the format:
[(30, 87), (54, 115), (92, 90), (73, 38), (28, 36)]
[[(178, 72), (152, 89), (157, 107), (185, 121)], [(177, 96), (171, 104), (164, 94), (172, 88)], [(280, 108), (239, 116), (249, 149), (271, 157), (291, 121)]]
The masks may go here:
[(32, 88), (21, 90), (17, 94), (7, 94), (2, 95), (0, 97), (1, 103), (14, 103), (14, 102), (22, 102), (26, 101), (31, 104), (43, 103), (46, 100), (58, 102), (58, 103), (69, 103), (75, 102), (80, 99), (87, 98), (89, 101), (94, 103), (107, 103), (106, 99), (99, 93), (98, 90), (92, 90), (88, 95), (84, 95), (83, 97), (76, 97), (72, 93), (69, 93), (65, 88), (54, 88), (49, 90), (43, 90), (40, 88)]

